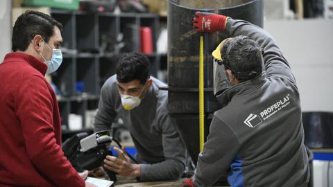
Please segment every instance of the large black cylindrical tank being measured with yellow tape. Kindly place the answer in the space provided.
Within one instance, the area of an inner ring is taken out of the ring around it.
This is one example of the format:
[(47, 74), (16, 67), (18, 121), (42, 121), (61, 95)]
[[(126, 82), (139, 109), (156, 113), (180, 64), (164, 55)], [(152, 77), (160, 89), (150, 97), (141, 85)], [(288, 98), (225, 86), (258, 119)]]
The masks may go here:
[[(169, 110), (178, 124), (192, 160), (199, 153), (198, 82), (200, 33), (192, 28), (196, 11), (214, 12), (233, 19), (263, 24), (261, 0), (169, 0), (168, 3), (168, 88)], [(213, 94), (212, 51), (228, 35), (216, 32), (204, 35), (205, 135), (212, 113), (221, 108)]]

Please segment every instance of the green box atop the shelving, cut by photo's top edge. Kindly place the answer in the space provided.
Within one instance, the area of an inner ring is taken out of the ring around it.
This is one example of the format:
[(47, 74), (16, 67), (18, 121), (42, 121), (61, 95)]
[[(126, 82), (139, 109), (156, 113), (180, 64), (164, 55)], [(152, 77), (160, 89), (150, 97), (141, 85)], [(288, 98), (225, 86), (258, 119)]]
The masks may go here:
[(24, 0), (24, 6), (49, 6), (67, 10), (78, 10), (78, 0)]

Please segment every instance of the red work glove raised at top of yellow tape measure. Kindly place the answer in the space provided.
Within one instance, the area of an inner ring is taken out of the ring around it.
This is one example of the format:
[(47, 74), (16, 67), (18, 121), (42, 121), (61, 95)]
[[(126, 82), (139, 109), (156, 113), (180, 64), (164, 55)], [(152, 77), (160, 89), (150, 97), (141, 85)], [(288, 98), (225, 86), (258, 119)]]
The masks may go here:
[(210, 12), (196, 12), (193, 19), (193, 28), (197, 32), (214, 33), (218, 30), (225, 30), (227, 17), (216, 15)]

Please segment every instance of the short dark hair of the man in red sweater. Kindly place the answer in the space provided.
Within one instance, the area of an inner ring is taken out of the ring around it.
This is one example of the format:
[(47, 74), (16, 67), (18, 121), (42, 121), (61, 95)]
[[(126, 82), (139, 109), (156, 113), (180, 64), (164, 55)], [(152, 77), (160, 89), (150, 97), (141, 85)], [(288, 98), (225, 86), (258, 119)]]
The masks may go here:
[(12, 29), (12, 51), (26, 51), (35, 35), (41, 35), (46, 43), (49, 42), (54, 26), (62, 30), (62, 24), (49, 15), (27, 10), (17, 18)]

